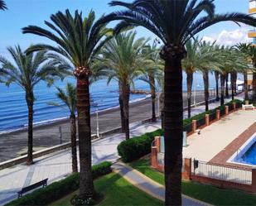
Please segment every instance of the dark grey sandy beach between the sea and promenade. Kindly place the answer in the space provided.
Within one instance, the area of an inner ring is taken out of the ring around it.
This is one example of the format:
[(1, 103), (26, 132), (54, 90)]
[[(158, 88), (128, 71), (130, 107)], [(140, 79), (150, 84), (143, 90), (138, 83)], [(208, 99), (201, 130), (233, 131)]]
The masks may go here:
[[(213, 97), (212, 93), (211, 97)], [(196, 93), (196, 102), (204, 101), (203, 91)], [(193, 101), (192, 101), (193, 102)], [(184, 107), (186, 108), (186, 93), (184, 93)], [(142, 121), (152, 115), (151, 98), (144, 99), (130, 104), (130, 123)], [(156, 113), (157, 105), (156, 105)], [(37, 126), (34, 128), (34, 151), (60, 144), (60, 132), (62, 130), (62, 143), (70, 141), (70, 122), (62, 120), (52, 122), (49, 125)], [(99, 132), (120, 127), (119, 108), (99, 112)], [(96, 117), (91, 116), (92, 134), (96, 133)], [(27, 131), (17, 131), (0, 135), (0, 162), (24, 155), (27, 151)]]

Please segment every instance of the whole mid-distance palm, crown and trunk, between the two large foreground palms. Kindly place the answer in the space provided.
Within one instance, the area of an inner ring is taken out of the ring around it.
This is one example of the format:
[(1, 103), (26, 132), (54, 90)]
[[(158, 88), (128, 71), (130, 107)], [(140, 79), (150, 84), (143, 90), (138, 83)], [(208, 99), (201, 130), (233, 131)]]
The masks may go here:
[[(138, 75), (143, 74), (147, 59), (142, 50), (148, 40), (135, 40), (136, 32), (120, 33), (108, 41), (101, 51), (99, 61), (109, 69), (108, 84), (112, 79), (118, 81), (120, 111), (126, 139), (129, 138), (129, 97), (130, 87)], [(123, 111), (122, 111), (123, 110)]]

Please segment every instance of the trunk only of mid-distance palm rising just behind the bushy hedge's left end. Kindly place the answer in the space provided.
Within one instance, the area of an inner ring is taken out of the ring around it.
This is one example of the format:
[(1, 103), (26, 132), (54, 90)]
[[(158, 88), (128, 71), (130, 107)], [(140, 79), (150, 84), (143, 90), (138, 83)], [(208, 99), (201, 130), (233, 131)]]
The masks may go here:
[(130, 85), (122, 85), (122, 98), (123, 98), (123, 117), (124, 117), (124, 132), (125, 139), (130, 138), (129, 130), (129, 98), (130, 98)]

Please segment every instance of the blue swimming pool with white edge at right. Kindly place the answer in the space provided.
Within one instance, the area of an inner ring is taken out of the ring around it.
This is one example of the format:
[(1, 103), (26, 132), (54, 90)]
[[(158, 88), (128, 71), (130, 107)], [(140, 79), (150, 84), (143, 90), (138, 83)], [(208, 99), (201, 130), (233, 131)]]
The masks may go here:
[(228, 160), (242, 165), (256, 165), (256, 132)]

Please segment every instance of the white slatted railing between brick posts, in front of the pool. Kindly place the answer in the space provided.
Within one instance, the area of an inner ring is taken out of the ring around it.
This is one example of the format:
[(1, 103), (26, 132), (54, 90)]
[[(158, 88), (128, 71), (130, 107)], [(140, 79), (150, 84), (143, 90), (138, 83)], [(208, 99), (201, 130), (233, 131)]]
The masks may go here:
[(240, 184), (252, 184), (252, 170), (192, 160), (191, 174)]

